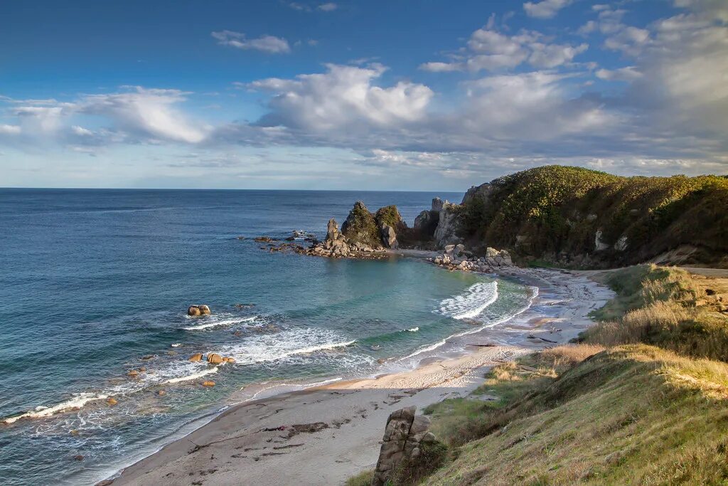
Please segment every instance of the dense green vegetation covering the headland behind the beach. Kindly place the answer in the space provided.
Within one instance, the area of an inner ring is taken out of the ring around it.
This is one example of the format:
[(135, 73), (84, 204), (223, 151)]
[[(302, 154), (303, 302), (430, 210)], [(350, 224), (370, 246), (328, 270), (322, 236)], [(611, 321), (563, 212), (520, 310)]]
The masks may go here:
[[(495, 179), (469, 192), (463, 207), (471, 246), (514, 249), (525, 259), (606, 267), (681, 249), (682, 262), (728, 266), (725, 177), (620, 177), (550, 165)], [(597, 230), (609, 248), (595, 254)]]

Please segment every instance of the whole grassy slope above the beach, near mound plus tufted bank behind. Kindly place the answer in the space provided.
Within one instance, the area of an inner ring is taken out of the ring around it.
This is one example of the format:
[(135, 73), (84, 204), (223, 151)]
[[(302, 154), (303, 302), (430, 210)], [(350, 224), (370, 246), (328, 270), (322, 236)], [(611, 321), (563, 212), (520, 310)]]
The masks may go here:
[[(645, 310), (667, 305), (716, 329), (728, 318), (710, 303), (695, 307), (704, 287), (678, 270), (642, 266), (604, 278), (619, 295), (597, 316), (612, 327), (585, 336), (592, 344), (496, 367), (478, 390), (493, 401), (427, 410), (449, 458), (425, 484), (728, 484), (728, 364), (695, 357), (716, 335), (665, 328), (659, 312)], [(666, 330), (606, 332), (632, 326), (635, 313)], [(663, 348), (618, 345), (645, 336)]]

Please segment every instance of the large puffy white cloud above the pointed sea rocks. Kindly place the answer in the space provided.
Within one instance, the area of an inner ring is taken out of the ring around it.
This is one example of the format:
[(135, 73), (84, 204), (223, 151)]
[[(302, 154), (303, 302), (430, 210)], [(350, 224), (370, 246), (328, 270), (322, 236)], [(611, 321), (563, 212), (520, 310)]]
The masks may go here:
[(250, 89), (273, 94), (271, 113), (262, 125), (285, 125), (314, 131), (339, 130), (347, 125), (387, 126), (414, 122), (425, 115), (432, 90), (412, 82), (379, 87), (374, 81), (385, 68), (371, 64), (326, 65), (323, 74), (302, 74), (296, 79), (261, 79)]

